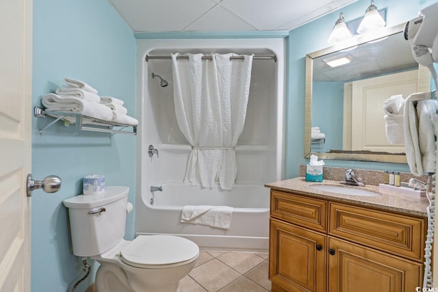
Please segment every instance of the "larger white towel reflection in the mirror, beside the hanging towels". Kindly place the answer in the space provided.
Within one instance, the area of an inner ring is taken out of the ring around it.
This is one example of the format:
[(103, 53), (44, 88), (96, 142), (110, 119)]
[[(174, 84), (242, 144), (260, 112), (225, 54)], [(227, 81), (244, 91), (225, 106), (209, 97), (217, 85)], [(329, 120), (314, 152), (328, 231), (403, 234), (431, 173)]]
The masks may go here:
[(403, 111), (404, 98), (402, 94), (393, 95), (383, 105), (385, 112), (385, 132), (389, 144), (404, 144)]

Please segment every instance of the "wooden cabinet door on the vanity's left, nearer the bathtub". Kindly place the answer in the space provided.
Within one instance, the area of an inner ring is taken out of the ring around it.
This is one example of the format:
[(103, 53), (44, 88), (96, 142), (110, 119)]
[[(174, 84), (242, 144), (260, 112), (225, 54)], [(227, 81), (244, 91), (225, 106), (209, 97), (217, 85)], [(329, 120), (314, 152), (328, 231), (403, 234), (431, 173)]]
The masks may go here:
[(272, 291), (325, 291), (326, 235), (270, 220)]

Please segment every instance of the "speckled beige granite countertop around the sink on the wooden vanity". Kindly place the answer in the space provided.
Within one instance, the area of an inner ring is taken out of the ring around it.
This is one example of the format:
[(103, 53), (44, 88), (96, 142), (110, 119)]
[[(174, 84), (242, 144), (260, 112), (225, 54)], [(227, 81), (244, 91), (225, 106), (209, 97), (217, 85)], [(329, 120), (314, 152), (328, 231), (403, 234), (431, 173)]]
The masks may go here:
[[(395, 211), (408, 215), (416, 215), (427, 217), (426, 208), (429, 205), (428, 199), (425, 197), (417, 197), (410, 194), (402, 194), (398, 191), (381, 189), (376, 185), (366, 185), (365, 187), (353, 187), (366, 189), (378, 193), (378, 196), (350, 196), (344, 194), (335, 194), (329, 191), (315, 189), (311, 185), (336, 185), (342, 186), (339, 181), (329, 181), (324, 179), (322, 183), (309, 182), (303, 177), (291, 178), (285, 181), (277, 181), (275, 183), (267, 183), (265, 187), (275, 191), (293, 192), (303, 196), (311, 196), (313, 198), (322, 198), (336, 202), (345, 202), (355, 204), (361, 207), (372, 207), (383, 211)], [(344, 185), (345, 186), (345, 185)], [(350, 187), (350, 186), (345, 186)]]

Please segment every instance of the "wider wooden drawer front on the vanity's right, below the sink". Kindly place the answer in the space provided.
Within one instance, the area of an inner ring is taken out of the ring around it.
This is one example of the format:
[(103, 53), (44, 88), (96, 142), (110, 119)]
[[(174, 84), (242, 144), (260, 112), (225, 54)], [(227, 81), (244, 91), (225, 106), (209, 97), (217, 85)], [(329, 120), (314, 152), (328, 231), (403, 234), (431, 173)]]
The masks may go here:
[(331, 202), (329, 234), (422, 261), (426, 220)]

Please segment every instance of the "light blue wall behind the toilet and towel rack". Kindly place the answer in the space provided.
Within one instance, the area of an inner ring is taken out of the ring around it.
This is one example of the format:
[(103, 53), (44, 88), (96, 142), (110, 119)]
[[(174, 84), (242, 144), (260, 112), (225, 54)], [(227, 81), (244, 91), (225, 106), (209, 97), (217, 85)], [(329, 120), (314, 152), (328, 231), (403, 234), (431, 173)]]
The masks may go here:
[[(86, 81), (100, 95), (123, 99), (128, 114), (135, 116), (136, 40), (107, 0), (34, 1), (33, 45), (33, 105), (71, 77)], [(134, 202), (136, 136), (110, 140), (107, 133), (76, 133), (62, 122), (38, 135), (51, 120), (32, 120), (32, 171), (37, 179), (60, 176), (62, 189), (55, 194), (34, 191), (32, 197), (31, 290), (62, 292), (84, 274), (81, 260), (70, 252), (62, 200), (81, 194), (83, 176), (103, 174), (107, 185), (130, 187), (129, 201)], [(133, 237), (133, 228), (131, 213), (127, 238)], [(76, 291), (85, 291), (93, 278)]]

